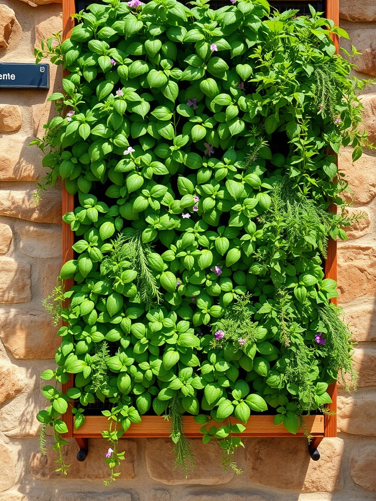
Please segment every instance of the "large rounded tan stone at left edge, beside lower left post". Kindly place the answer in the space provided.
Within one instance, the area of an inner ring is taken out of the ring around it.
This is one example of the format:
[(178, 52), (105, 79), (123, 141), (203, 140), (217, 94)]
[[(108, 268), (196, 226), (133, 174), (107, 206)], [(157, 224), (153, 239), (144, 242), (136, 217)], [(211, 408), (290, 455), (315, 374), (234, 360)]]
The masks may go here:
[(51, 317), (37, 312), (14, 309), (0, 315), (0, 337), (15, 358), (53, 358), (61, 343), (56, 336), (59, 327)]

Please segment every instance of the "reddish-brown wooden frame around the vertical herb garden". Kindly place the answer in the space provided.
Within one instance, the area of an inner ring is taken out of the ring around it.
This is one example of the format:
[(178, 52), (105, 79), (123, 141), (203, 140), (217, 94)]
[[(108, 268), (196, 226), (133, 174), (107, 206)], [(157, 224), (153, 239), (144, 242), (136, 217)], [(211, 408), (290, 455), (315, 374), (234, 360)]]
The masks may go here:
[[(308, 0), (307, 0), (308, 1)], [(71, 15), (75, 13), (75, 1), (63, 0), (63, 39), (70, 36), (74, 27), (74, 20)], [(325, 15), (332, 19), (336, 26), (339, 25), (339, 0), (326, 0)], [(333, 41), (338, 52), (338, 37), (333, 35)], [(63, 76), (64, 73), (63, 73)], [(63, 214), (74, 210), (74, 197), (70, 195), (63, 185)], [(336, 207), (331, 204), (331, 211), (335, 211)], [(63, 223), (63, 264), (74, 259), (72, 245), (74, 243), (74, 233), (71, 231), (68, 224)], [(337, 246), (332, 239), (328, 243), (328, 257), (325, 262), (325, 276), (337, 280)], [(70, 289), (73, 285), (73, 279), (65, 281), (66, 289)], [(332, 300), (336, 304), (336, 299)], [(63, 385), (63, 391), (66, 392), (73, 387), (73, 375), (68, 383)], [(328, 405), (328, 410), (336, 411), (336, 383), (328, 388), (328, 393), (332, 399), (332, 403)], [(68, 427), (68, 433), (63, 435), (64, 438), (75, 438), (80, 451), (77, 454), (77, 459), (84, 460), (88, 452), (88, 438), (101, 437), (101, 431), (107, 428), (107, 418), (105, 416), (87, 416), (85, 423), (78, 429), (74, 429), (73, 414), (68, 408), (67, 412), (62, 416)], [(273, 424), (274, 416), (272, 415), (252, 415), (247, 423), (246, 430), (241, 434), (243, 437), (294, 437), (304, 436), (303, 430), (299, 429), (296, 435), (289, 433), (283, 425), (276, 426)], [(239, 422), (237, 419), (232, 421)], [(201, 425), (194, 421), (193, 416), (184, 416), (184, 433), (188, 437), (202, 437), (200, 432)], [(226, 423), (224, 423), (226, 424)], [(324, 437), (337, 436), (337, 419), (336, 415), (311, 415), (305, 418), (307, 431), (313, 435), (313, 439), (309, 445), (309, 452), (313, 459), (319, 459), (320, 455), (317, 451), (317, 446)], [(124, 438), (141, 438), (141, 437), (169, 437), (170, 424), (163, 416), (143, 416), (142, 423), (132, 424), (124, 433)]]

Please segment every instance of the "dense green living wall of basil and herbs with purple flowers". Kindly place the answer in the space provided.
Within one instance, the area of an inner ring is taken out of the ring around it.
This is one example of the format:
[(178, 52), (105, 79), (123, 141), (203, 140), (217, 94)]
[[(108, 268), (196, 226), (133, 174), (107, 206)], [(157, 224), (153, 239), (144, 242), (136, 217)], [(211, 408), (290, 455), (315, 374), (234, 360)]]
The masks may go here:
[(145, 413), (170, 416), (185, 472), (184, 412), (237, 470), (232, 433), (244, 426), (232, 416), (273, 413), (296, 433), (325, 411), (338, 372), (356, 381), (323, 261), (328, 238), (351, 224), (335, 153), (361, 155), (362, 82), (335, 55), (330, 33), (346, 33), (312, 8), (106, 3), (36, 51), (69, 71), (65, 94), (50, 98), (60, 116), (35, 141), (49, 168), (37, 195), (60, 176), (76, 200), (63, 217), (76, 259), (59, 277), (75, 285), (50, 298), (66, 326), (38, 419), (54, 428), (64, 473), (71, 399), (76, 428), (88, 404), (108, 409), (111, 480), (118, 439)]

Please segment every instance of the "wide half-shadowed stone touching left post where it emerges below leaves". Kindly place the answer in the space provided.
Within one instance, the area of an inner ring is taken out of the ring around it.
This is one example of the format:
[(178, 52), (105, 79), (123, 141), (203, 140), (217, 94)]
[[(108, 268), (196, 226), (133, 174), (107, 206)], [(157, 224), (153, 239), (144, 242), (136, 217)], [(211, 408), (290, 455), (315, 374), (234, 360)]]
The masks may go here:
[(45, 191), (38, 205), (35, 205), (34, 191), (35, 187), (0, 190), (0, 215), (34, 222), (60, 223), (61, 188), (50, 188)]

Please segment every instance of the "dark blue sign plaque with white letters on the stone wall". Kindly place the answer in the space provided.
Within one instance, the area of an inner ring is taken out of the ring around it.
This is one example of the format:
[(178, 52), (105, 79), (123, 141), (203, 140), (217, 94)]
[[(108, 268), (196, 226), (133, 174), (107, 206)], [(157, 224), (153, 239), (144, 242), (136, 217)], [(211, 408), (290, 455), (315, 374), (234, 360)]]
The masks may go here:
[(50, 66), (33, 63), (0, 63), (0, 89), (50, 88)]

